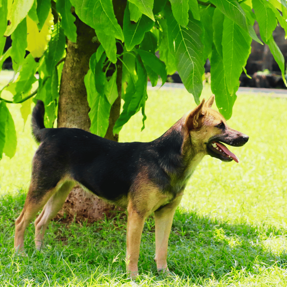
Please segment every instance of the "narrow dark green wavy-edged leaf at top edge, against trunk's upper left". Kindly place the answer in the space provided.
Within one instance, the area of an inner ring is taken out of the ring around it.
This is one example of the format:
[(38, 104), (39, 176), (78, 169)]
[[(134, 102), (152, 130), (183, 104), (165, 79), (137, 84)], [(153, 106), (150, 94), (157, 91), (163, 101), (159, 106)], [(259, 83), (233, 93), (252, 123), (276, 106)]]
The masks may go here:
[(76, 17), (71, 13), (72, 4), (69, 0), (57, 0), (57, 12), (61, 14), (61, 27), (71, 42), (77, 42), (77, 27), (74, 24)]

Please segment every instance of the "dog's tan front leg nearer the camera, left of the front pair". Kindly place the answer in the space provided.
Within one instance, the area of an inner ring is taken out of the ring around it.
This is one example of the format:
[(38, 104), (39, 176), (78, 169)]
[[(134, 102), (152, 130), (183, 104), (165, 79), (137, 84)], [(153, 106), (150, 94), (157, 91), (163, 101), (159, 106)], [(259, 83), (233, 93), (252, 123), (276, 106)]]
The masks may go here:
[(144, 228), (145, 215), (135, 210), (132, 203), (127, 207), (127, 276), (135, 278), (139, 275), (137, 263), (139, 261), (139, 246)]

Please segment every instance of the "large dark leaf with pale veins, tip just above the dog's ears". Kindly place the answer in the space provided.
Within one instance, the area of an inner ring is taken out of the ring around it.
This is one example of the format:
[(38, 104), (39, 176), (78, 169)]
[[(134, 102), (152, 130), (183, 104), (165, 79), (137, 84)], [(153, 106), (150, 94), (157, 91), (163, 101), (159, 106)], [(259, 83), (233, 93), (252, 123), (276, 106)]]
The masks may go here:
[[(168, 12), (168, 10), (166, 10)], [(187, 29), (183, 29), (169, 14), (167, 25), (173, 31), (175, 42), (175, 63), (181, 80), (189, 93), (193, 94), (194, 100), (199, 104), (201, 94), (203, 64), (203, 37), (202, 23), (194, 20), (189, 11), (189, 23)]]

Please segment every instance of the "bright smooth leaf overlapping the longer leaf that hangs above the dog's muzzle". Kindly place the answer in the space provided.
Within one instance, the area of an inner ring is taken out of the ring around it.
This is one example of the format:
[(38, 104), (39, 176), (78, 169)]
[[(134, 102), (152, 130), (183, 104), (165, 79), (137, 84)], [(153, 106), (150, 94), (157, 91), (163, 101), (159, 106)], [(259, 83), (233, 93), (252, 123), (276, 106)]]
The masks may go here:
[(239, 77), (242, 73), (248, 56), (251, 38), (232, 20), (225, 17), (223, 22), (222, 54), (226, 85), (230, 94), (239, 86)]

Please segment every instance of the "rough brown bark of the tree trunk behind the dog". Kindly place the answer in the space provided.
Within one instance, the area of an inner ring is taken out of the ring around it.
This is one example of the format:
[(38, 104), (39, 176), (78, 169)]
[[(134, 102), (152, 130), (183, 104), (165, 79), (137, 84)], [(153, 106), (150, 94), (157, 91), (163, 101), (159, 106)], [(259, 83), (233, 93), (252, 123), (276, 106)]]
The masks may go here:
[[(115, 15), (118, 22), (123, 27), (126, 1), (117, 0), (113, 1), (113, 4), (116, 7)], [(77, 26), (77, 42), (73, 43), (67, 40), (67, 55), (61, 75), (57, 123), (58, 127), (76, 127), (89, 131), (91, 123), (88, 112), (90, 107), (87, 101), (84, 77), (89, 70), (90, 57), (96, 52), (100, 43), (96, 38), (95, 31), (79, 20), (77, 16), (75, 25)], [(119, 135), (113, 134), (113, 127), (120, 114), (122, 90), (121, 61), (118, 60), (116, 65), (119, 96), (111, 107), (109, 126), (105, 135), (105, 138), (114, 141), (119, 139)], [(80, 186), (76, 186), (69, 193), (59, 215), (63, 216), (65, 213), (96, 220), (101, 218), (103, 214), (110, 214), (114, 209), (114, 205), (106, 203), (96, 195), (84, 191)]]

